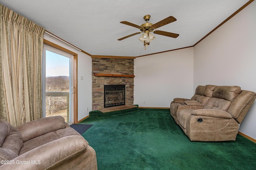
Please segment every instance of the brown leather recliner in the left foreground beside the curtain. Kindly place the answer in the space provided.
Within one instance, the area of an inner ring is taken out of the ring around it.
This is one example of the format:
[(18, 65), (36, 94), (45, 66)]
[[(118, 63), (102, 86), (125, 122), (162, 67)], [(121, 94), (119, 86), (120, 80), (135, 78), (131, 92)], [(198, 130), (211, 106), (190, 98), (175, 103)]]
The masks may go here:
[(18, 127), (0, 119), (0, 169), (96, 170), (96, 153), (61, 116)]

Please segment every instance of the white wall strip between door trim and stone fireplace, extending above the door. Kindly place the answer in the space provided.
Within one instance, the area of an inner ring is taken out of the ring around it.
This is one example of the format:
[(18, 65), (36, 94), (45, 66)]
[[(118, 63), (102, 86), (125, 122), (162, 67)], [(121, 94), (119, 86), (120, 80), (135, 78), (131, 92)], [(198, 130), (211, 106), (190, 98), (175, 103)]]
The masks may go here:
[[(92, 58), (56, 39), (44, 35), (44, 39), (51, 41), (78, 54), (78, 121), (89, 115), (92, 111)], [(84, 80), (80, 80), (80, 76)], [(88, 111), (86, 111), (88, 107)]]

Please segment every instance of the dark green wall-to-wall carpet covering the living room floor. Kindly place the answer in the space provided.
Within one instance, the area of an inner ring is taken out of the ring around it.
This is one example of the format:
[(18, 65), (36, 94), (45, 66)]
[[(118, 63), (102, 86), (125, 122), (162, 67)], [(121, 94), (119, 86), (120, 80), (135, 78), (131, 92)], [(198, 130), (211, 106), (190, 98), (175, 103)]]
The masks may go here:
[(253, 170), (256, 143), (238, 135), (236, 141), (192, 142), (176, 125), (169, 109), (138, 109), (106, 117), (83, 137), (94, 148), (98, 170)]

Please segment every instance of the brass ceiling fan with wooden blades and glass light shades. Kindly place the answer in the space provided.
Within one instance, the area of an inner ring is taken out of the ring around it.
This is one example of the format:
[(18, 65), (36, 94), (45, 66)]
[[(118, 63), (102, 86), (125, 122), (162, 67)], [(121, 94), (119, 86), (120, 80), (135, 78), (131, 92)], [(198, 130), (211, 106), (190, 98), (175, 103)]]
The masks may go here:
[(118, 40), (121, 41), (121, 40), (126, 39), (128, 37), (132, 37), (133, 35), (144, 33), (139, 38), (139, 40), (144, 42), (144, 47), (145, 47), (145, 50), (146, 50), (146, 47), (149, 45), (149, 43), (155, 39), (155, 36), (152, 35), (150, 32), (153, 32), (153, 33), (158, 34), (158, 35), (164, 35), (164, 36), (167, 36), (167, 37), (172, 37), (172, 38), (177, 38), (179, 36), (179, 34), (176, 34), (176, 33), (170, 33), (170, 32), (166, 32), (166, 31), (154, 30), (154, 29), (162, 27), (162, 26), (164, 26), (164, 25), (166, 25), (168, 23), (172, 23), (172, 22), (176, 21), (176, 18), (174, 18), (173, 16), (169, 16), (169, 17), (165, 18), (164, 20), (161, 20), (161, 21), (159, 21), (159, 22), (157, 22), (155, 24), (149, 23), (148, 22), (149, 19), (150, 19), (150, 15), (144, 16), (144, 20), (146, 21), (146, 23), (143, 23), (140, 26), (136, 25), (134, 23), (130, 23), (128, 21), (121, 21), (120, 23), (123, 23), (123, 24), (126, 24), (126, 25), (130, 25), (132, 27), (136, 27), (136, 28), (140, 29), (141, 32), (137, 32), (137, 33), (133, 33), (133, 34), (127, 35), (127, 36), (122, 37), (122, 38), (120, 38)]

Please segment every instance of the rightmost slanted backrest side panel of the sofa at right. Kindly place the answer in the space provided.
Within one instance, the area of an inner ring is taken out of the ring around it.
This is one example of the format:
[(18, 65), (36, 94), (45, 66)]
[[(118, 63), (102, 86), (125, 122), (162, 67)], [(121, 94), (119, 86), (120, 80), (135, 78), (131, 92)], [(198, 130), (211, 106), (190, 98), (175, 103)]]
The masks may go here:
[(255, 92), (242, 90), (242, 92), (233, 100), (232, 104), (228, 108), (228, 113), (230, 113), (230, 115), (232, 115), (236, 121), (241, 123), (246, 113), (252, 106), (255, 98)]

